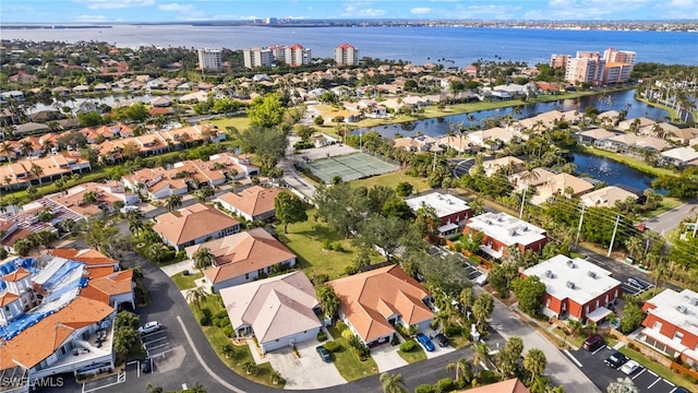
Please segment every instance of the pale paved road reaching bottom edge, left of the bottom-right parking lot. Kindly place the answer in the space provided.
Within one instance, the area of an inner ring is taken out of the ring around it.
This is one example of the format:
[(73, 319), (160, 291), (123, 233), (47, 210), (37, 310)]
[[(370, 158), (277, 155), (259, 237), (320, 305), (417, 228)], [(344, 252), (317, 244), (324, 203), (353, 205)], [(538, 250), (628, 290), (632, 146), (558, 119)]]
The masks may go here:
[(600, 393), (599, 389), (579, 370), (564, 354), (537, 330), (521, 321), (516, 312), (498, 300), (494, 302), (494, 311), (490, 324), (502, 336), (519, 336), (524, 340), (524, 353), (539, 348), (545, 354), (547, 366), (545, 376), (554, 384), (564, 385), (566, 393)]

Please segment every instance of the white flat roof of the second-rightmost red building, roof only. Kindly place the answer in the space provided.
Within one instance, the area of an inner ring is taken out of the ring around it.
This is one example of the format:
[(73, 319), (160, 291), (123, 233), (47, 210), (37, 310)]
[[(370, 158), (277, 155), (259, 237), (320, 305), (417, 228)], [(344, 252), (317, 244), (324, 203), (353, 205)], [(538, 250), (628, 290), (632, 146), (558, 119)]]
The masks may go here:
[[(524, 274), (538, 276), (545, 284), (545, 291), (554, 298), (567, 298), (578, 305), (586, 305), (621, 286), (621, 282), (613, 278), (610, 271), (587, 260), (569, 259), (565, 255), (555, 255), (525, 270)], [(568, 283), (573, 283), (574, 286)]]

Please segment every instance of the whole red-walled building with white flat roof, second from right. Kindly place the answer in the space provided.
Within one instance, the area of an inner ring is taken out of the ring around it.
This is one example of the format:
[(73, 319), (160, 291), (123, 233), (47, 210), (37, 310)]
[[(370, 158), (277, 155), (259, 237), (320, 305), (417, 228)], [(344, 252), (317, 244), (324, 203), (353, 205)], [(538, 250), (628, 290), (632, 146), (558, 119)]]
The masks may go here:
[(551, 318), (599, 323), (623, 294), (611, 272), (579, 258), (555, 255), (527, 269), (522, 276), (538, 276), (545, 284), (542, 311)]

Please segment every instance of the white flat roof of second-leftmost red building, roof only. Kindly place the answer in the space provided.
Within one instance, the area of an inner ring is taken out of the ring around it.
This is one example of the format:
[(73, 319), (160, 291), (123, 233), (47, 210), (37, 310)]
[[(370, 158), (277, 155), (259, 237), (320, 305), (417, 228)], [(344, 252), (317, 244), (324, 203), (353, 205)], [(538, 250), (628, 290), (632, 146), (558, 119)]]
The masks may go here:
[(545, 229), (529, 224), (506, 213), (484, 213), (471, 217), (468, 226), (485, 236), (512, 247), (514, 245), (531, 245), (546, 237)]

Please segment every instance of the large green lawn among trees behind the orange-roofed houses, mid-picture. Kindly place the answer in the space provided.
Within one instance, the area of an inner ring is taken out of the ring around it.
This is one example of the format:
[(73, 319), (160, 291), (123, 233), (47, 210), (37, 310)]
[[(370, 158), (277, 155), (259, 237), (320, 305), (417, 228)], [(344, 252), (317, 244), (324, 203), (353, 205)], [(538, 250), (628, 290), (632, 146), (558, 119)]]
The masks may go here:
[[(290, 224), (288, 234), (284, 235), (284, 226), (276, 227), (281, 242), (298, 255), (300, 267), (309, 277), (318, 274), (327, 274), (329, 279), (345, 275), (345, 269), (353, 265), (357, 248), (350, 239), (345, 239), (323, 223), (314, 218), (315, 211), (308, 212), (308, 221)], [(323, 248), (323, 240), (339, 242), (344, 252), (328, 251)], [(371, 262), (381, 262), (384, 259), (372, 252)]]

